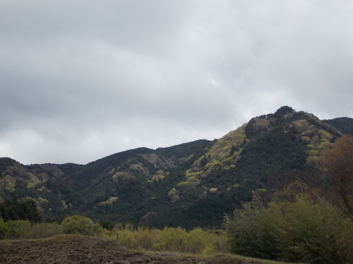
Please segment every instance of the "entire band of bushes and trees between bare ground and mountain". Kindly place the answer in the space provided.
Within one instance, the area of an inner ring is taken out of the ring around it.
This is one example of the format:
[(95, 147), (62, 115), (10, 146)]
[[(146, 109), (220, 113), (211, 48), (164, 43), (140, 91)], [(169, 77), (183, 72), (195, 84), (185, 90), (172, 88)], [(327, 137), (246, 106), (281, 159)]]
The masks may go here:
[[(217, 253), (302, 263), (351, 263), (353, 259), (353, 136), (340, 137), (318, 162), (320, 188), (294, 180), (268, 199), (253, 191), (224, 219), (224, 228), (109, 225), (72, 215), (61, 223), (39, 223), (33, 201), (1, 203), (0, 238), (40, 238), (53, 234), (106, 237), (138, 250)], [(39, 215), (39, 214), (38, 214)]]

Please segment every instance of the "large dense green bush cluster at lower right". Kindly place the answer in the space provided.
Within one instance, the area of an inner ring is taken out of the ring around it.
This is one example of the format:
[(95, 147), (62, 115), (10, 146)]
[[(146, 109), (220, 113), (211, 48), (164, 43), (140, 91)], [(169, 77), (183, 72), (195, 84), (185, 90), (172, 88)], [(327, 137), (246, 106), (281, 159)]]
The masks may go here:
[(230, 250), (303, 263), (349, 263), (353, 222), (324, 199), (300, 193), (264, 207), (257, 195), (225, 219)]

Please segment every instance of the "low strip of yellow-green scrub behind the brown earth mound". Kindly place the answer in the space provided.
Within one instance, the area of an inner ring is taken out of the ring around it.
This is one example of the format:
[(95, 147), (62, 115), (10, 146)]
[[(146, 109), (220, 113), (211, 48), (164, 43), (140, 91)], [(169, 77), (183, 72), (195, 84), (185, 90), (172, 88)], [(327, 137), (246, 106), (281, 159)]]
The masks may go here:
[(224, 232), (194, 228), (164, 227), (163, 230), (135, 227), (132, 222), (117, 224), (109, 231), (83, 215), (72, 215), (59, 223), (35, 224), (28, 220), (5, 222), (0, 218), (0, 239), (40, 239), (57, 234), (82, 234), (114, 239), (128, 249), (141, 251), (179, 251), (189, 253), (219, 253), (227, 250)]

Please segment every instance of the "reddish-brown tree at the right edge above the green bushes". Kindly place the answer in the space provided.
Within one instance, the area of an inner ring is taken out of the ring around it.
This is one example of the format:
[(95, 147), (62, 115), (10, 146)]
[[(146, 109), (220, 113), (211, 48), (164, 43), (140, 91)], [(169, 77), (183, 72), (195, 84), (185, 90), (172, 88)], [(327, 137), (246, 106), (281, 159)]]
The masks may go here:
[(340, 137), (321, 156), (320, 165), (328, 181), (335, 187), (345, 208), (353, 213), (353, 136)]

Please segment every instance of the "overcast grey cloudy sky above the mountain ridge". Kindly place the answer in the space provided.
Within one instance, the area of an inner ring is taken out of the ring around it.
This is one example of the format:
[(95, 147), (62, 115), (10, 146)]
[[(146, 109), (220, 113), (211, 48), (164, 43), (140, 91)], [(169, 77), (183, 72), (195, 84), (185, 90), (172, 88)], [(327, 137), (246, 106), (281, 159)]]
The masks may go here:
[(353, 1), (0, 0), (0, 157), (86, 164), (280, 106), (353, 118)]

